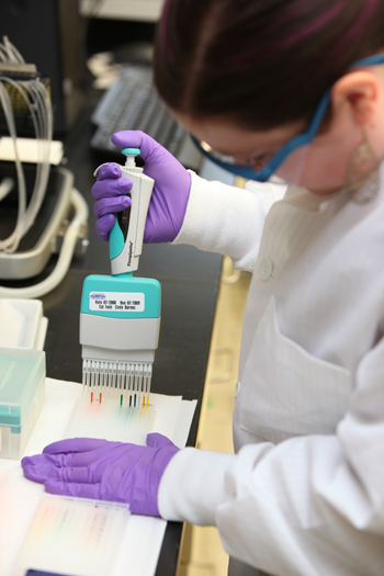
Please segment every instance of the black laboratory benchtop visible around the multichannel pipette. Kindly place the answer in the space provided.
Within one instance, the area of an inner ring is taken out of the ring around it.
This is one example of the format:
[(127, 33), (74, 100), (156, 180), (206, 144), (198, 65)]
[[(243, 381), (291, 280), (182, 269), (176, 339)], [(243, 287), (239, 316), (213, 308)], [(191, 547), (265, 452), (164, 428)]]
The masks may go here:
[[(90, 207), (89, 247), (83, 257), (72, 260), (63, 282), (41, 300), (48, 318), (46, 335), (47, 376), (81, 382), (81, 347), (79, 312), (84, 278), (93, 273), (111, 273), (109, 245), (94, 229), (91, 188), (93, 171), (103, 160), (90, 150), (91, 124), (83, 114), (71, 134), (64, 139), (65, 168), (75, 176), (75, 187)], [(123, 163), (123, 161), (122, 161)], [(43, 279), (55, 264), (53, 257)], [(140, 258), (140, 276), (156, 278), (161, 283), (161, 327), (156, 351), (151, 391), (197, 399), (188, 445), (194, 445), (211, 342), (222, 257), (202, 252), (190, 246), (148, 245)], [(7, 286), (30, 282), (0, 281)], [(156, 576), (176, 574), (182, 523), (168, 522)]]

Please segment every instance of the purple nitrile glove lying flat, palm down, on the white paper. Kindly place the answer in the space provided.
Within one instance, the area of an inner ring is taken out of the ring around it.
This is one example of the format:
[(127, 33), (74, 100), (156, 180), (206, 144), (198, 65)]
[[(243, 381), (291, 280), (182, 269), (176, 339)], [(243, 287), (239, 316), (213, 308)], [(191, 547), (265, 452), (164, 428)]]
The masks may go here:
[(45, 447), (21, 461), (24, 476), (47, 492), (129, 504), (133, 513), (160, 516), (161, 476), (179, 449), (165, 436), (147, 436), (147, 445), (72, 438)]

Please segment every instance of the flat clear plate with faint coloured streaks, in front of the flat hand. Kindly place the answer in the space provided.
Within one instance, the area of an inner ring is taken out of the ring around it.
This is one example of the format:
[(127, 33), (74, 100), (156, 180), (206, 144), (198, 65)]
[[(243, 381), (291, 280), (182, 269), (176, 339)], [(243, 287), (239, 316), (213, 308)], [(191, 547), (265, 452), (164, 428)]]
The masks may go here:
[(12, 576), (25, 576), (29, 568), (44, 571), (47, 576), (114, 574), (129, 516), (129, 507), (123, 502), (43, 495)]

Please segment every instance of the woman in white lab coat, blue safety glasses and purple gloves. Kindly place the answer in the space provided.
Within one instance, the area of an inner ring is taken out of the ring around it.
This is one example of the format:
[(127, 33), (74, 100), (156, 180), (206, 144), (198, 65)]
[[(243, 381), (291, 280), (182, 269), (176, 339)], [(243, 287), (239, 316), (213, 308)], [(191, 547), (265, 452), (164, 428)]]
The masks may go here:
[[(206, 182), (143, 133), (112, 137), (142, 149), (156, 182), (146, 241), (226, 253), (253, 273), (236, 454), (158, 436), (149, 447), (69, 440), (24, 459), (27, 477), (217, 526), (231, 574), (383, 574), (383, 0), (166, 2), (162, 99), (234, 157), (231, 171), (291, 184), (271, 206), (266, 184)], [(116, 165), (98, 179), (106, 239), (131, 183)]]

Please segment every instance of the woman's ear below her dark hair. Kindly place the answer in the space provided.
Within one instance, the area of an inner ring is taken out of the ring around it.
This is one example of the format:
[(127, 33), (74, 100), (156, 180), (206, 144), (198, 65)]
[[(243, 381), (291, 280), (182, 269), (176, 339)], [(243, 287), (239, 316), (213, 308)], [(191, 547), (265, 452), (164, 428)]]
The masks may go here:
[(380, 101), (380, 80), (374, 70), (346, 74), (331, 89), (334, 113), (348, 113), (361, 126), (374, 123)]

